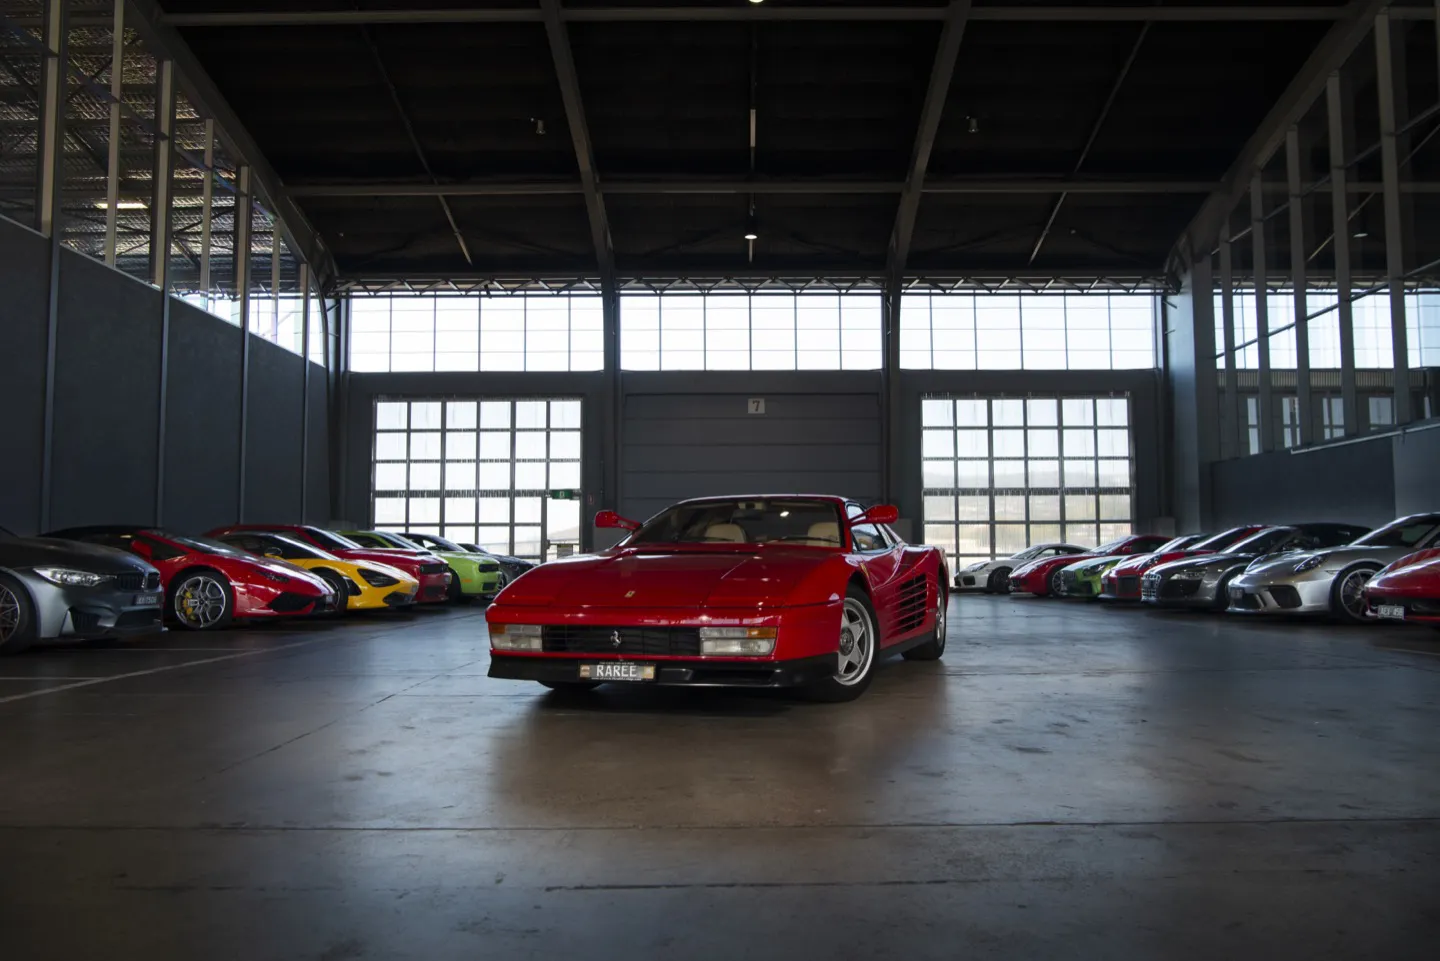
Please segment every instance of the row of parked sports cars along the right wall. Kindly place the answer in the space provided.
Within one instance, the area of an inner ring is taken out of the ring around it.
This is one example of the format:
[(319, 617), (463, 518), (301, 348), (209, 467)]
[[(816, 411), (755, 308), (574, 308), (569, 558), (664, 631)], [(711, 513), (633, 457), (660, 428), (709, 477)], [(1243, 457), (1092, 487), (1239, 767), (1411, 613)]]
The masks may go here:
[(1244, 524), (1215, 535), (1132, 535), (1086, 550), (1037, 545), (956, 575), (988, 594), (1139, 601), (1236, 614), (1440, 625), (1440, 513), (1358, 524)]

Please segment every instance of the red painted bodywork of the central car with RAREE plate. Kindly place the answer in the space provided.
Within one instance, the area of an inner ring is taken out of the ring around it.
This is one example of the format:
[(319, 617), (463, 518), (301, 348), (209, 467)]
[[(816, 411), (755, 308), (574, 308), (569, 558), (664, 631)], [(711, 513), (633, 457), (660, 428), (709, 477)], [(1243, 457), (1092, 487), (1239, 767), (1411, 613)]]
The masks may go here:
[[(828, 500), (844, 516), (845, 501), (838, 497), (756, 496), (768, 497)], [(707, 667), (822, 658), (838, 653), (841, 607), (855, 573), (868, 586), (880, 650), (932, 633), (937, 592), (949, 585), (942, 553), (906, 543), (880, 553), (854, 552), (848, 522), (842, 540), (841, 549), (622, 543), (528, 571), (507, 585), (485, 612), (491, 624), (540, 627), (776, 627), (775, 650), (766, 657), (495, 650), (492, 658), (685, 661)]]

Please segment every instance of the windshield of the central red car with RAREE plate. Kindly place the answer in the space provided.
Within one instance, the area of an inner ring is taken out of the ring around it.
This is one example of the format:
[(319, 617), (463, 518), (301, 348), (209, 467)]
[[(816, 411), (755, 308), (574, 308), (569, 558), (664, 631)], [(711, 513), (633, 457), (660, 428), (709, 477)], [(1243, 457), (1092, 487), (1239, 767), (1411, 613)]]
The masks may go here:
[(819, 500), (708, 500), (655, 514), (625, 542), (840, 547), (840, 507)]

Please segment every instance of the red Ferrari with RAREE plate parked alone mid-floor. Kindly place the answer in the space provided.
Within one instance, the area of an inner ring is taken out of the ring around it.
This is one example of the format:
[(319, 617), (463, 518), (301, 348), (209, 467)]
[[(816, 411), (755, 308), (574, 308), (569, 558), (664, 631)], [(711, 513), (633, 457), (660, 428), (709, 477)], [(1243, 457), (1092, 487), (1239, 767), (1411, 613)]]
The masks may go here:
[(539, 566), (495, 598), (490, 676), (852, 700), (880, 658), (945, 651), (945, 558), (900, 540), (896, 517), (822, 494), (687, 500), (644, 524), (600, 511), (596, 526), (629, 536)]

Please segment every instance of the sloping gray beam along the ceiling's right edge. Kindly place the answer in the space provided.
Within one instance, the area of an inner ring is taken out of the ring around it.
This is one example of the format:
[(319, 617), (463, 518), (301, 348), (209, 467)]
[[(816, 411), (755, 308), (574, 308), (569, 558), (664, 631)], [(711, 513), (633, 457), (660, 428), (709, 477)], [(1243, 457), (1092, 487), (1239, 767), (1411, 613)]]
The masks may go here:
[(1387, 0), (1351, 0), (1345, 4), (1344, 17), (1325, 33), (1290, 85), (1280, 94), (1280, 99), (1246, 141), (1220, 186), (1205, 199), (1189, 226), (1181, 233), (1171, 251), (1168, 269), (1179, 275), (1197, 259), (1210, 256), (1225, 218), (1284, 143), (1286, 131), (1300, 122), (1325, 91), (1326, 79), (1345, 65), (1355, 48), (1369, 35), (1375, 16), (1385, 6)]

